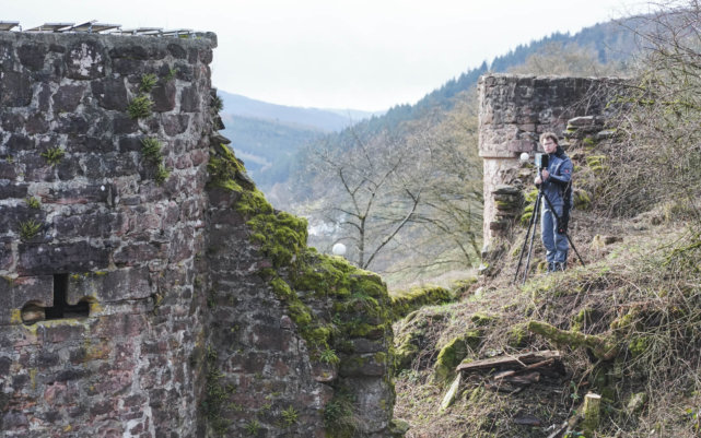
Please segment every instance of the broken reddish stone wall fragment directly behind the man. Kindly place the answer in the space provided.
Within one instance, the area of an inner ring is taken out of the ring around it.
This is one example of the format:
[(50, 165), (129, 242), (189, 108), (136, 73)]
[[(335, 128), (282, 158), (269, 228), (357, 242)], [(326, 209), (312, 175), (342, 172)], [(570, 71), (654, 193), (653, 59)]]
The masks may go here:
[[(527, 152), (533, 159), (536, 152), (542, 152), (538, 140), (547, 131), (558, 134), (566, 150), (565, 129), (570, 121), (576, 126), (577, 118), (581, 123), (593, 125), (593, 131), (600, 131), (607, 113), (607, 85), (619, 81), (513, 74), (480, 78), (479, 155), (483, 158), (486, 250), (513, 220), (509, 209), (501, 212), (498, 204), (511, 205), (521, 190), (505, 186), (531, 185), (530, 173), (518, 175), (521, 154)], [(575, 128), (583, 132), (588, 129)]]

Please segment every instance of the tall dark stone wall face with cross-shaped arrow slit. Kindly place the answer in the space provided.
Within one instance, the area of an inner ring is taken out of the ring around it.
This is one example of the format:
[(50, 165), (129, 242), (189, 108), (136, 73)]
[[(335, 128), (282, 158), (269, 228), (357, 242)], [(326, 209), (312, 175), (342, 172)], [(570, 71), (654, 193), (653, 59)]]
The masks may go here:
[[(0, 33), (4, 437), (195, 436), (213, 46)], [(135, 120), (147, 73), (154, 115)], [(144, 137), (163, 144), (162, 185)], [(42, 154), (56, 147), (51, 165)], [(58, 305), (57, 288), (87, 316), (23, 323)]]

